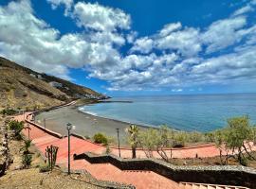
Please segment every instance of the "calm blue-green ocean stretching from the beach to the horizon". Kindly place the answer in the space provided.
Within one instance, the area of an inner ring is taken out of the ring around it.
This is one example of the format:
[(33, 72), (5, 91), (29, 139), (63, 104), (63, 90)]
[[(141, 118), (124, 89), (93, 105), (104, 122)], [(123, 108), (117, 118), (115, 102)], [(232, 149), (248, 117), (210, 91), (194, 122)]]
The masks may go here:
[(82, 112), (119, 121), (187, 131), (210, 131), (227, 126), (227, 119), (248, 115), (256, 124), (256, 94), (192, 94), (114, 97), (111, 102), (80, 107)]

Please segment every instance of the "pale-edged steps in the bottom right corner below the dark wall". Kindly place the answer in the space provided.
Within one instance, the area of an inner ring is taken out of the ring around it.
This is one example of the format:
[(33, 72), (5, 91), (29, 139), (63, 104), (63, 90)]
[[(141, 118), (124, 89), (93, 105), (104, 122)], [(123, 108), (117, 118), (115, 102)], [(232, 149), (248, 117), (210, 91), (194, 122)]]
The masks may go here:
[(229, 186), (209, 183), (179, 182), (180, 189), (249, 189), (243, 186)]

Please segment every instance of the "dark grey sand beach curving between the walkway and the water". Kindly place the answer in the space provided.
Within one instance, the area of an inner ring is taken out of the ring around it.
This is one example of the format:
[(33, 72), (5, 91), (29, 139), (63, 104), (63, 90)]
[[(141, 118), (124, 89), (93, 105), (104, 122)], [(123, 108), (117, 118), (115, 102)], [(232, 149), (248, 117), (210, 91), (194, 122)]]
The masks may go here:
[[(46, 118), (46, 129), (66, 135), (66, 124), (71, 123), (76, 126), (76, 129), (72, 130), (72, 132), (82, 136), (89, 136), (90, 138), (95, 133), (101, 132), (110, 137), (116, 144), (118, 141), (117, 129), (119, 129), (119, 139), (122, 146), (127, 144), (127, 133), (125, 129), (131, 125), (130, 123), (80, 112), (75, 106), (42, 112), (36, 116), (36, 121), (39, 121), (38, 123), (44, 126), (44, 118)], [(147, 128), (144, 126), (138, 127), (139, 129)]]

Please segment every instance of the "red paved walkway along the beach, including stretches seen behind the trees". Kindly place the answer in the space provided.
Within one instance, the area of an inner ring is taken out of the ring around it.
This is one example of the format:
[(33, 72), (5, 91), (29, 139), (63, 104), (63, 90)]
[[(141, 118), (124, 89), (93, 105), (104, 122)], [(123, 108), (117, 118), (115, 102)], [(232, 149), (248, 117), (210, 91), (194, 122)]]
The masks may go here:
[[(16, 120), (23, 121), (24, 115), (18, 115)], [(29, 117), (28, 117), (29, 120)], [(28, 124), (30, 131), (29, 137), (38, 149), (45, 154), (46, 146), (59, 146), (57, 163), (67, 166), (67, 137), (58, 138), (52, 136), (44, 129), (39, 129), (31, 124)], [(39, 126), (40, 127), (40, 126)], [(23, 133), (28, 136), (28, 130), (24, 129)], [(71, 156), (73, 154), (80, 154), (83, 152), (93, 152), (96, 154), (102, 154), (106, 148), (101, 145), (94, 144), (90, 141), (80, 139), (78, 137), (71, 136)], [(117, 148), (111, 148), (113, 154), (118, 155), (119, 150)], [(121, 157), (131, 158), (130, 149), (121, 149)], [(173, 157), (175, 158), (194, 158), (195, 154), (198, 157), (212, 157), (219, 155), (219, 149), (216, 146), (199, 146), (199, 147), (187, 147), (173, 149)], [(156, 152), (154, 153), (157, 157)], [(137, 150), (138, 158), (145, 158), (145, 154), (142, 150)], [(181, 188), (181, 185), (174, 180), (169, 180), (162, 177), (152, 171), (122, 171), (116, 166), (110, 163), (88, 163), (85, 160), (74, 161), (71, 159), (72, 169), (84, 169), (88, 171), (93, 177), (98, 180), (111, 180), (121, 183), (133, 184), (138, 189), (152, 188), (152, 189), (165, 189), (165, 188)], [(182, 185), (183, 188), (183, 185)], [(189, 189), (189, 188), (188, 188)]]

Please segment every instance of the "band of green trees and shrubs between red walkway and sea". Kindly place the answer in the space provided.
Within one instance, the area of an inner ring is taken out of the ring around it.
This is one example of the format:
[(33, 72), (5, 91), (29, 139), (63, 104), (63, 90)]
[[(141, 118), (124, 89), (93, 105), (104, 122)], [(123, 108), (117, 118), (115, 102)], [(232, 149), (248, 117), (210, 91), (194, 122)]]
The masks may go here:
[[(148, 158), (153, 158), (153, 151), (166, 162), (172, 157), (172, 147), (183, 147), (194, 143), (215, 143), (220, 147), (220, 161), (228, 164), (232, 158), (242, 165), (247, 165), (247, 159), (256, 160), (249, 152), (252, 143), (256, 142), (256, 127), (249, 124), (248, 116), (233, 117), (227, 122), (227, 127), (211, 132), (186, 132), (162, 126), (160, 129), (135, 129), (131, 126), (128, 131), (128, 141), (133, 149), (141, 147)], [(135, 134), (136, 133), (136, 134)], [(166, 148), (171, 150), (167, 155)], [(171, 154), (171, 155), (170, 155)]]

